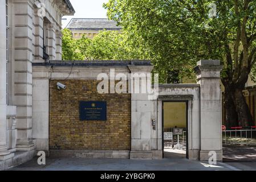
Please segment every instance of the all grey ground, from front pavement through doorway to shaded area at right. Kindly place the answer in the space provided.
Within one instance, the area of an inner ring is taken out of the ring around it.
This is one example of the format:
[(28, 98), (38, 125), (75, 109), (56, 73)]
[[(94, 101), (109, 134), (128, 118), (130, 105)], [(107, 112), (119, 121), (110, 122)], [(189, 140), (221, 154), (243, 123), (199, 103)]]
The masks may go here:
[(90, 159), (47, 158), (40, 166), (38, 158), (9, 171), (256, 171), (255, 147), (224, 146), (224, 162), (210, 165), (208, 162), (186, 159), (184, 150), (165, 148), (164, 159)]

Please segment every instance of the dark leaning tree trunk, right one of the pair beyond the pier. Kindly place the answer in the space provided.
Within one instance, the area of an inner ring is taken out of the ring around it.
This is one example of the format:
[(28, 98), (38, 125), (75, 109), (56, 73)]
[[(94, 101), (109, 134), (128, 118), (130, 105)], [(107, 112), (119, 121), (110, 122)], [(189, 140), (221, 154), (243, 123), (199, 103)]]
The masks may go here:
[(237, 110), (239, 126), (253, 126), (253, 118), (241, 88), (235, 88), (234, 90), (234, 104)]

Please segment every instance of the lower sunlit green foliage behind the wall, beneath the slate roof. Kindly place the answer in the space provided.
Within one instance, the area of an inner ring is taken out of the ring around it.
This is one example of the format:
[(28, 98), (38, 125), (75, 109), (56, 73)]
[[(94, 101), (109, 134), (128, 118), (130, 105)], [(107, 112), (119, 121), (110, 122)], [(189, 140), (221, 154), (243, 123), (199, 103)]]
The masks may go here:
[(63, 60), (149, 59), (141, 40), (129, 39), (126, 32), (100, 31), (93, 39), (75, 40), (70, 30), (63, 30)]

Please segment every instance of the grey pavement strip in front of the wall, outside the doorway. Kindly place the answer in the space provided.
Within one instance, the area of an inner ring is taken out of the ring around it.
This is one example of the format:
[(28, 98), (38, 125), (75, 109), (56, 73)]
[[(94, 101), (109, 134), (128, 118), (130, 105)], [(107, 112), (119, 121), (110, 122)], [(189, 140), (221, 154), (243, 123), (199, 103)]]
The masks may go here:
[(37, 158), (10, 171), (230, 171), (228, 164), (209, 165), (188, 159), (131, 160), (131, 159), (85, 159), (47, 158), (46, 166), (39, 166)]

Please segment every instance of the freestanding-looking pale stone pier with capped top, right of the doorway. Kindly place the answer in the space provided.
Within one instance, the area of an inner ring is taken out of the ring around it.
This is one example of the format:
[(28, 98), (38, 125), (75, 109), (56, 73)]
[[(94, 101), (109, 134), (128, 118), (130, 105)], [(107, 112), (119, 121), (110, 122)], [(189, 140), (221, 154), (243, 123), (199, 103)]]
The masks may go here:
[(220, 60), (201, 60), (195, 68), (200, 84), (200, 160), (208, 160), (210, 151), (222, 160), (221, 69)]

